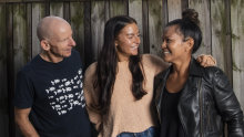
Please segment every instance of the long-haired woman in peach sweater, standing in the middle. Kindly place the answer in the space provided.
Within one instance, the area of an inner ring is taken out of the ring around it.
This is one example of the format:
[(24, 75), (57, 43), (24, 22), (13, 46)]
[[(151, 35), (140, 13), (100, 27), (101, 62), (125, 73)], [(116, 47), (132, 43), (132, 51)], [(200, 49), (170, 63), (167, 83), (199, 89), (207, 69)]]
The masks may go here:
[[(130, 17), (105, 23), (104, 43), (96, 63), (85, 72), (84, 95), (90, 120), (100, 137), (156, 137), (152, 107), (153, 78), (169, 65), (139, 54), (140, 32)], [(204, 61), (212, 64), (212, 57)]]

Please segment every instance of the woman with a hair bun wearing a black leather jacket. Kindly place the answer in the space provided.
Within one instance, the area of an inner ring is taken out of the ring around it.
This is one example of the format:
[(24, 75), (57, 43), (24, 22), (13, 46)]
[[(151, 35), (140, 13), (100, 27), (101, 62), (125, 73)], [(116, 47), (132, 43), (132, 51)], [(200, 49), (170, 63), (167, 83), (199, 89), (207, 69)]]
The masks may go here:
[(167, 23), (163, 60), (172, 65), (155, 77), (160, 137), (244, 137), (243, 113), (225, 74), (202, 67), (192, 56), (202, 41), (197, 12)]

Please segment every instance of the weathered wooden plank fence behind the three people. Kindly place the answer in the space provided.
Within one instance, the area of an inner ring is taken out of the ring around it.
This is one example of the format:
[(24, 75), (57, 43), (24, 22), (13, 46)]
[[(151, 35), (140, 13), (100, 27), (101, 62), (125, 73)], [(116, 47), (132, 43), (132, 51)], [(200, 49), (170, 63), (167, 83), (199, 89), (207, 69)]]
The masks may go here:
[(53, 14), (68, 20), (85, 66), (98, 59), (105, 21), (118, 14), (136, 19), (142, 53), (161, 55), (164, 25), (185, 8), (200, 13), (203, 43), (196, 54), (212, 54), (224, 70), (244, 108), (244, 0), (0, 0), (0, 136), (21, 136), (14, 128), (17, 72), (40, 52), (37, 24)]

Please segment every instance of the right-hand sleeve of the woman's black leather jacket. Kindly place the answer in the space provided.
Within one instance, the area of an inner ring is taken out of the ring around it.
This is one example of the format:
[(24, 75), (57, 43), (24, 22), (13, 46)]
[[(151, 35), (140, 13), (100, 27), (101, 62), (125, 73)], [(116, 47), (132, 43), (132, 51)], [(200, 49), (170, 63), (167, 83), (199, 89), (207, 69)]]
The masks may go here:
[(222, 118), (227, 124), (228, 137), (243, 137), (243, 112), (237, 97), (232, 89), (231, 83), (221, 70), (216, 71), (214, 76), (214, 98)]

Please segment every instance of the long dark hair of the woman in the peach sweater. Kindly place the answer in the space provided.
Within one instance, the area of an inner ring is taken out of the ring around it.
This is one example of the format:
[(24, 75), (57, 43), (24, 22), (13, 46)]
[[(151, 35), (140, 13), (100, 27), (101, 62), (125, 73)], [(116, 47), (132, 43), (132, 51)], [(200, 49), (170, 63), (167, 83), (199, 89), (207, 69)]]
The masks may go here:
[[(131, 23), (136, 21), (126, 15), (119, 15), (111, 18), (105, 23), (104, 42), (101, 53), (98, 59), (96, 76), (98, 80), (94, 83), (94, 87), (99, 88), (99, 104), (95, 108), (102, 114), (106, 115), (109, 112), (112, 91), (118, 72), (118, 55), (114, 41), (118, 38), (121, 30)], [(130, 56), (129, 67), (132, 74), (132, 93), (136, 99), (141, 99), (146, 92), (143, 89), (143, 71), (141, 70), (141, 56), (140, 54)]]

